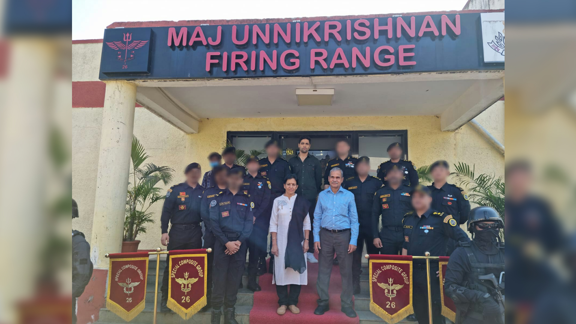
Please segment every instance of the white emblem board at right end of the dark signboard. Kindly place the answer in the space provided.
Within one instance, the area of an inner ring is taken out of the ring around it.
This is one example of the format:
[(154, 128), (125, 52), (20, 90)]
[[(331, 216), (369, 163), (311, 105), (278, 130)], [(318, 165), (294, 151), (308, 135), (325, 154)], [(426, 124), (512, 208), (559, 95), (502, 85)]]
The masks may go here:
[(484, 62), (504, 62), (504, 13), (481, 13)]

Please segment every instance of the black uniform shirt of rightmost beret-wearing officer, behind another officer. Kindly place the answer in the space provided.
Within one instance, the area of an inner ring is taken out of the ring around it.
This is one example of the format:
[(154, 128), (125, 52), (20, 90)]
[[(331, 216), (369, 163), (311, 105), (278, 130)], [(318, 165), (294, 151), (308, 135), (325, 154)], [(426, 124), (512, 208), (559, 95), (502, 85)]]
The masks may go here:
[(445, 183), (440, 189), (434, 187), (434, 183), (428, 187), (432, 191), (432, 209), (452, 215), (458, 224), (466, 223), (470, 203), (464, 189), (450, 183)]

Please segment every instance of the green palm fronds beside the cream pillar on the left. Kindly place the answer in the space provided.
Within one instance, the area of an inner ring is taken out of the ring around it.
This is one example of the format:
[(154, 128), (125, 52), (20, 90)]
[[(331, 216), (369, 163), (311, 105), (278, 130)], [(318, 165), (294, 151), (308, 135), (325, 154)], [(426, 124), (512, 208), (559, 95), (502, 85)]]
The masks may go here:
[(153, 213), (148, 212), (150, 206), (165, 198), (161, 194), (162, 188), (156, 187), (158, 182), (167, 186), (172, 182), (174, 169), (159, 167), (154, 163), (144, 162), (150, 156), (146, 154), (144, 146), (138, 138), (132, 138), (132, 170), (126, 198), (126, 212), (124, 217), (124, 241), (133, 241), (139, 233), (146, 233), (146, 225), (153, 224)]

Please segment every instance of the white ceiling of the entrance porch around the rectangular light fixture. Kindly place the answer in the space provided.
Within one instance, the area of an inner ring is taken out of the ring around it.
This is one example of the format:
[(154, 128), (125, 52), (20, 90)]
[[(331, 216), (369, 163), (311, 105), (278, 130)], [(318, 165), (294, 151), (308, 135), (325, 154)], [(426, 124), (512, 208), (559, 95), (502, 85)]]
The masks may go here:
[(440, 115), (476, 80), (322, 84), (332, 106), (298, 106), (302, 85), (191, 86), (162, 90), (199, 118)]

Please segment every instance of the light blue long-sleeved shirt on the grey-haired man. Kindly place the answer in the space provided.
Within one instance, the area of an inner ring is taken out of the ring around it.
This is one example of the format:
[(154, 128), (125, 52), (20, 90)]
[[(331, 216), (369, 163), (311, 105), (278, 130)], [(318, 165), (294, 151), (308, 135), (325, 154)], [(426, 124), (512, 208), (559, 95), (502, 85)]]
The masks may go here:
[(320, 242), (320, 227), (327, 229), (350, 228), (350, 244), (357, 245), (358, 213), (354, 194), (340, 189), (334, 194), (331, 188), (320, 191), (314, 210), (314, 242)]

